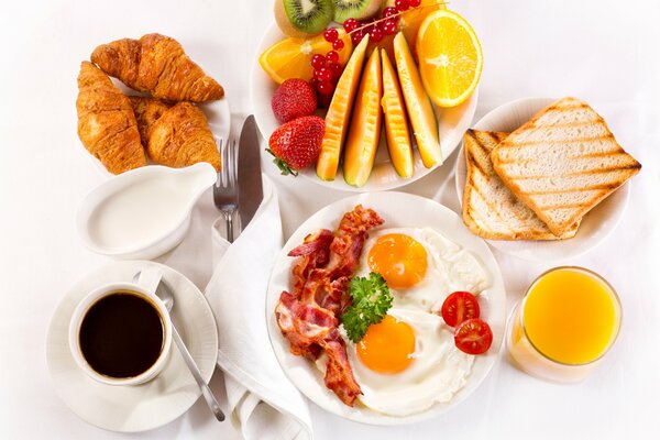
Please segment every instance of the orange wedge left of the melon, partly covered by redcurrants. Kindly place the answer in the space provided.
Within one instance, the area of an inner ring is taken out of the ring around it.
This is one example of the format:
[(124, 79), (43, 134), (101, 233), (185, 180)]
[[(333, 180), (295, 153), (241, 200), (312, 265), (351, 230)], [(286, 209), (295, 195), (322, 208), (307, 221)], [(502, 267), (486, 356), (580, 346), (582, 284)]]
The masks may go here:
[[(351, 37), (338, 29), (339, 37), (344, 42), (344, 47), (339, 53), (339, 64), (346, 64), (353, 51)], [(258, 57), (258, 64), (268, 76), (277, 84), (288, 78), (311, 79), (314, 68), (311, 57), (314, 54), (326, 55), (332, 51), (332, 44), (328, 43), (323, 35), (312, 38), (284, 38), (268, 47)]]

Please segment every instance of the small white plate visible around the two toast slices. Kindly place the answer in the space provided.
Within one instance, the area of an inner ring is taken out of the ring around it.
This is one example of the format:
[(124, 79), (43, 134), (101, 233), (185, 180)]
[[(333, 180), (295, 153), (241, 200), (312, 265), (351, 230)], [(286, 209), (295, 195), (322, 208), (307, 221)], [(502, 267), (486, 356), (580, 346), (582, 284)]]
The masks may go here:
[[(507, 102), (484, 116), (475, 125), (475, 130), (512, 132), (527, 122), (537, 111), (557, 99), (552, 98), (524, 98)], [(464, 148), (459, 152), (457, 161), (457, 195), (459, 204), (463, 204), (463, 189), (465, 188)], [(581, 255), (597, 246), (619, 223), (626, 206), (630, 186), (626, 183), (609, 197), (598, 204), (584, 216), (578, 233), (569, 240), (556, 241), (507, 241), (486, 240), (497, 250), (528, 261), (556, 261)]]

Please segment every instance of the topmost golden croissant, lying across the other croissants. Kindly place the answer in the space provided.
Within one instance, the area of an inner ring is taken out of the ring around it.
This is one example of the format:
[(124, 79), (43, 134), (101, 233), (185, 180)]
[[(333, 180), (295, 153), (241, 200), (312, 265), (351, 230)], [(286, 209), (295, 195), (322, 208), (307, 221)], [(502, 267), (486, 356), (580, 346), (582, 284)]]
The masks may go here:
[(204, 102), (220, 99), (224, 90), (206, 75), (174, 38), (146, 34), (98, 46), (91, 61), (108, 75), (135, 90), (170, 101)]

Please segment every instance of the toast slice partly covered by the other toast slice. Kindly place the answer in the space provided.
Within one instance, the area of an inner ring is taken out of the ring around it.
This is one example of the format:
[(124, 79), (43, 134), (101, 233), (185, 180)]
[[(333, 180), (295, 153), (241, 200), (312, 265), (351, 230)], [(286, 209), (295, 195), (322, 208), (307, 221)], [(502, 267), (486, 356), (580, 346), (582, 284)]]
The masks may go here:
[(575, 235), (580, 222), (561, 237), (504, 185), (491, 163), (491, 151), (508, 133), (468, 130), (464, 151), (468, 176), (463, 190), (463, 222), (476, 235), (491, 240), (561, 240)]

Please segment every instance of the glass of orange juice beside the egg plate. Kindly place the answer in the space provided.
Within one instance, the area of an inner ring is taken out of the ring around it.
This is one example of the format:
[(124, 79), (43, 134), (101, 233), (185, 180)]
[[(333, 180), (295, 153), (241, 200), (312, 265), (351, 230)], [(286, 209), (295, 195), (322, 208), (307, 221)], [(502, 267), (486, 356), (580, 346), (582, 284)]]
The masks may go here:
[(583, 267), (541, 274), (513, 312), (507, 346), (525, 372), (549, 381), (580, 382), (614, 344), (622, 305), (614, 288)]

